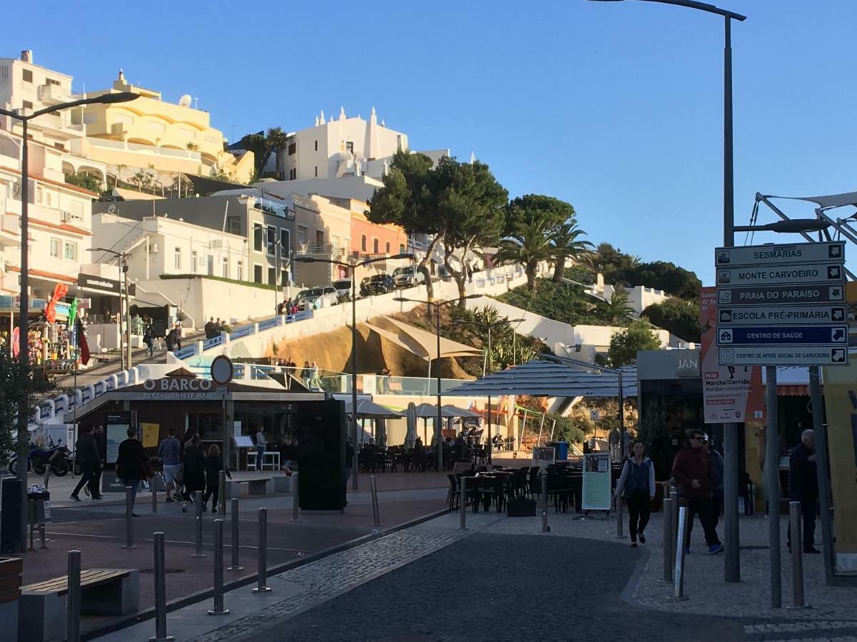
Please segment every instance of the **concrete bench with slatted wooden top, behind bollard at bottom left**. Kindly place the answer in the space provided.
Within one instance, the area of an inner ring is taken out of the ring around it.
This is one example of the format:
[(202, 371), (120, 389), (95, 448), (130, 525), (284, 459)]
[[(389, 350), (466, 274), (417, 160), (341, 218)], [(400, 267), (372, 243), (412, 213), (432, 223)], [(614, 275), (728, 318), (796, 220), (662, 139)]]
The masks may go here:
[[(19, 640), (65, 638), (66, 576), (21, 587)], [(90, 568), (81, 571), (81, 614), (127, 615), (140, 609), (140, 571)]]

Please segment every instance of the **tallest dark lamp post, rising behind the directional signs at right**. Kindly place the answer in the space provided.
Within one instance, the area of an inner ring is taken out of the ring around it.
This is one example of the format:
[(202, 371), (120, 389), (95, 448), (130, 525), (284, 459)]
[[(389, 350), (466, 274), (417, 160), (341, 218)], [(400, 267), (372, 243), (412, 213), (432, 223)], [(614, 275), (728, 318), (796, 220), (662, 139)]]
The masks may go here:
[[(619, 0), (593, 0), (619, 2)], [(724, 21), (723, 45), (723, 246), (734, 246), (734, 176), (732, 151), (732, 21), (746, 20), (746, 15), (720, 9), (713, 4), (695, 0), (644, 0), (644, 2), (676, 4), (722, 15)], [(740, 582), (740, 554), (738, 533), (738, 425), (723, 424), (723, 512), (725, 514), (725, 556), (723, 579)]]

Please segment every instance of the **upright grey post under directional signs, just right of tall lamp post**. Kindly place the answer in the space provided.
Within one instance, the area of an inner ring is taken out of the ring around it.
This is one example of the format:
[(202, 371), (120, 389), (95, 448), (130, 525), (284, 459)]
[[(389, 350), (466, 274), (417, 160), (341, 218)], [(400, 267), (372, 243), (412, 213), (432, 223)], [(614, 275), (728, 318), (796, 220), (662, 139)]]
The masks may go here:
[(776, 366), (765, 366), (767, 434), (764, 449), (764, 490), (768, 496), (768, 539), (770, 545), (770, 607), (782, 607), (780, 569), (780, 436), (776, 408)]

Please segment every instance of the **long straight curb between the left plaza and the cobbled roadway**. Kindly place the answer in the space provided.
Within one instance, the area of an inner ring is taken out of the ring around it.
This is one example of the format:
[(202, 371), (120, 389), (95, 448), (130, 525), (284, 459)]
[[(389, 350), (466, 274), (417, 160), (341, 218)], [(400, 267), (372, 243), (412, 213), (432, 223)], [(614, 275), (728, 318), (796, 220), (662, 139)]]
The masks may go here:
[[(336, 544), (335, 546), (331, 546), (330, 548), (320, 550), (317, 553), (313, 553), (310, 556), (305, 556), (297, 560), (292, 560), (291, 562), (284, 562), (279, 564), (278, 566), (271, 567), (267, 569), (266, 577), (271, 577), (272, 575), (277, 575), (281, 573), (285, 573), (286, 571), (290, 571), (294, 568), (302, 567), (306, 564), (311, 564), (313, 562), (318, 562), (319, 560), (324, 559), (325, 557), (329, 557), (332, 555), (336, 555), (337, 553), (341, 553), (344, 550), (350, 550), (360, 546), (361, 544), (366, 544), (368, 542), (374, 541), (375, 539), (381, 539), (387, 537), (394, 532), (404, 531), (406, 528), (411, 528), (411, 526), (417, 526), (422, 524), (423, 522), (434, 520), (441, 515), (447, 514), (449, 512), (448, 508), (442, 508), (440, 510), (434, 511), (434, 513), (425, 514), (421, 517), (417, 517), (416, 519), (405, 521), (396, 526), (391, 526), (388, 529), (380, 532), (369, 533), (368, 535), (363, 535), (363, 537), (359, 537), (356, 539), (351, 539), (344, 544)], [(251, 584), (255, 584), (259, 575), (250, 575), (249, 577), (242, 578), (241, 580), (234, 580), (228, 583), (224, 583), (223, 590), (232, 591), (233, 589), (242, 588), (243, 586), (250, 586)], [(171, 613), (172, 611), (183, 609), (186, 606), (190, 606), (191, 604), (202, 602), (203, 600), (213, 599), (214, 597), (214, 589), (205, 589), (203, 591), (197, 591), (195, 593), (190, 593), (185, 597), (179, 597), (178, 599), (172, 600), (166, 604), (166, 612)], [(133, 627), (135, 624), (140, 624), (141, 622), (152, 620), (155, 615), (154, 607), (150, 607), (146, 610), (139, 611), (134, 615), (129, 615), (123, 620), (112, 622), (104, 627), (99, 627), (93, 629), (92, 631), (88, 631), (87, 633), (81, 633), (81, 640), (91, 640), (98, 639), (102, 635), (106, 635), (107, 633), (115, 633), (117, 631), (121, 631), (123, 628)]]

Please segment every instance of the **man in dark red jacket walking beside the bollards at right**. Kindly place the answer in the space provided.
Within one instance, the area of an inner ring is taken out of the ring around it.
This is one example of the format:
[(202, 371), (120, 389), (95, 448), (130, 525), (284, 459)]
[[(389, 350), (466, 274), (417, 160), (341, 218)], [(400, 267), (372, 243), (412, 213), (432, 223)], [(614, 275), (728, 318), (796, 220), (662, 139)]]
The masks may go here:
[(705, 434), (702, 431), (692, 431), (685, 448), (675, 455), (673, 461), (673, 479), (680, 485), (681, 496), (686, 498), (687, 536), (685, 552), (690, 552), (693, 515), (699, 515), (699, 522), (705, 532), (705, 543), (708, 552), (715, 555), (723, 550), (723, 544), (717, 537), (717, 522), (711, 509), (710, 463), (711, 454), (705, 448)]

